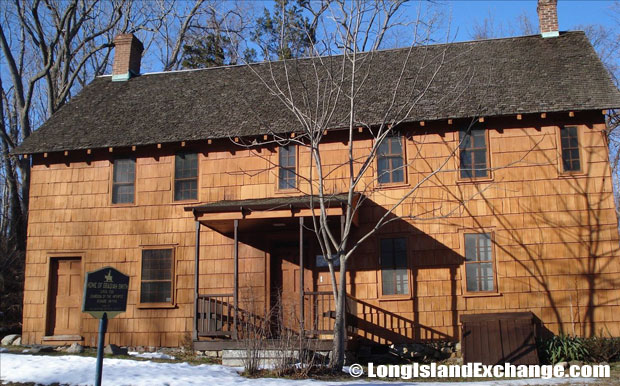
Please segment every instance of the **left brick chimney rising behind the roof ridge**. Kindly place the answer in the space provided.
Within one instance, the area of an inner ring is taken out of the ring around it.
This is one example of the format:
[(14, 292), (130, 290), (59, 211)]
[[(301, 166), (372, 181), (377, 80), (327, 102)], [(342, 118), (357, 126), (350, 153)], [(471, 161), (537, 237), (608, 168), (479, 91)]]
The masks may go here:
[(140, 75), (140, 61), (144, 46), (134, 34), (120, 34), (114, 38), (112, 81), (126, 81)]

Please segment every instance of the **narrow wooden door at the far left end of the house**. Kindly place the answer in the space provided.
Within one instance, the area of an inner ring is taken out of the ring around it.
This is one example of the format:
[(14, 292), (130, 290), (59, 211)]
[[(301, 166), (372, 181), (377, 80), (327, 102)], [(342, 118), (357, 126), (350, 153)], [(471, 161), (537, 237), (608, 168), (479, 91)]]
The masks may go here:
[(80, 334), (83, 290), (80, 258), (52, 259), (48, 335)]

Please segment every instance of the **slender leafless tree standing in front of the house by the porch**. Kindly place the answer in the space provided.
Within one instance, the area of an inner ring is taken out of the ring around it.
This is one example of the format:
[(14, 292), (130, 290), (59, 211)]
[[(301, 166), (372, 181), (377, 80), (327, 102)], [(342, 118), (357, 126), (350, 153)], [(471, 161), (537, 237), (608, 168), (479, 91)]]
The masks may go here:
[[(403, 3), (323, 2), (320, 12), (312, 13), (319, 15), (314, 55), (247, 66), (298, 124), (293, 135), (270, 129), (273, 143), (296, 145), (300, 147), (300, 158), (309, 157), (305, 163), (307, 168), (297, 172), (302, 180), (297, 189), (310, 197), (313, 210), (310, 229), (316, 235), (331, 275), (336, 304), (330, 359), (333, 369), (340, 369), (344, 363), (347, 271), (351, 259), (355, 259), (360, 247), (386, 225), (403, 218), (421, 220), (413, 209), (404, 210), (403, 203), (410, 203), (421, 185), (447, 170), (458, 148), (453, 147), (443, 161), (425, 172), (412, 186), (404, 188), (402, 195), (388, 200), (385, 212), (372, 220), (372, 226), (354, 230), (355, 218), (366, 204), (366, 197), (383, 194), (379, 186), (385, 173), (375, 167), (378, 156), (385, 153), (385, 145), (393, 134), (406, 129), (427, 94), (435, 92), (435, 81), (449, 61), (447, 46), (434, 49), (428, 46), (435, 39), (437, 27), (434, 9), (422, 3), (416, 11), (416, 19), (402, 23)], [(399, 61), (390, 73), (393, 76), (389, 82), (391, 86), (383, 92), (381, 103), (375, 106), (377, 111), (368, 114), (363, 110), (364, 98), (369, 89), (377, 86), (371, 84), (375, 81), (372, 74), (381, 71), (376, 51), (386, 47), (385, 41), (395, 29), (401, 37), (406, 34), (409, 38), (408, 48), (402, 49), (402, 56), (399, 56), (402, 62)], [(458, 97), (468, 81), (460, 79), (455, 93), (445, 98)], [(346, 157), (338, 161), (326, 159), (323, 151), (326, 143), (333, 141), (327, 137), (335, 135), (331, 131), (335, 128), (339, 129), (340, 141), (346, 143)], [(358, 141), (360, 133), (370, 139), (364, 145)], [(255, 144), (242, 145), (251, 148)], [(259, 152), (256, 154), (260, 156)], [(408, 158), (419, 156), (413, 154)], [(395, 165), (395, 170), (403, 172), (406, 166)], [(339, 231), (329, 224), (328, 207), (335, 194), (343, 193), (346, 199), (342, 202), (344, 215)]]

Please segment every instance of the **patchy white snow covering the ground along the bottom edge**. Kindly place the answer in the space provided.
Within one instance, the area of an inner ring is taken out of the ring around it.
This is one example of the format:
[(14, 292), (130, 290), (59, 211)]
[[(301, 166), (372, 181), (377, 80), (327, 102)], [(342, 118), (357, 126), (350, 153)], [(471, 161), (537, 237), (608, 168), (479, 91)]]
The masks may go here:
[[(73, 355), (46, 356), (46, 355), (0, 355), (0, 380), (6, 382), (34, 382), (48, 385), (60, 383), (62, 385), (91, 385), (95, 378), (96, 358)], [(151, 361), (135, 361), (129, 359), (103, 360), (103, 385), (217, 385), (217, 386), (327, 386), (327, 385), (358, 385), (371, 386), (384, 384), (383, 382), (366, 382), (351, 379), (350, 382), (315, 381), (288, 379), (259, 378), (248, 379), (240, 376), (240, 369), (221, 365), (198, 365), (187, 363), (155, 363)], [(566, 379), (524, 379), (505, 381), (485, 381), (468, 383), (428, 383), (428, 382), (388, 382), (388, 386), (421, 385), (421, 386), (509, 386), (509, 385), (550, 385), (566, 383)], [(584, 379), (573, 379), (572, 383), (583, 384)]]

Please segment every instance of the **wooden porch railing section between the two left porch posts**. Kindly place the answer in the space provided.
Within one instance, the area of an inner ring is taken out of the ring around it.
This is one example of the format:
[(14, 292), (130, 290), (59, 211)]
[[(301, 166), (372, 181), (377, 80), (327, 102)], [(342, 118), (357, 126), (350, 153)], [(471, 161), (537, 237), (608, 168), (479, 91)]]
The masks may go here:
[(198, 336), (236, 337), (233, 294), (198, 295), (196, 324)]

